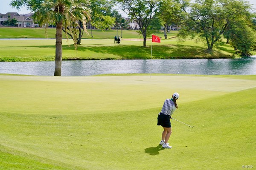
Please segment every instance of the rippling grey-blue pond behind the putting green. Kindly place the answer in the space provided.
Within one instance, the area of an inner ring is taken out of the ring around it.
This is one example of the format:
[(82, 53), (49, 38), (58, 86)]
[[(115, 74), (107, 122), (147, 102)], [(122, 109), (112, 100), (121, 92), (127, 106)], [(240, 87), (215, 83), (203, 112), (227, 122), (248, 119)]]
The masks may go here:
[[(0, 62), (0, 73), (53, 76), (55, 62)], [(97, 74), (256, 74), (256, 56), (241, 59), (135, 59), (62, 61), (62, 76)]]

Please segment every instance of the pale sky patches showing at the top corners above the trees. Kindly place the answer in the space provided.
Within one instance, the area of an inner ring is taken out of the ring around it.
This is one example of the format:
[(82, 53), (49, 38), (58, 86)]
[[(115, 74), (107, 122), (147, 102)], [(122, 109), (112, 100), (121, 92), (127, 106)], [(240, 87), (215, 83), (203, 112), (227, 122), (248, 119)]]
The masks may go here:
[[(254, 12), (256, 12), (256, 0), (247, 0), (250, 4), (253, 4)], [(29, 10), (26, 9), (26, 7), (21, 8), (20, 11), (18, 11), (16, 8), (12, 8), (9, 6), (9, 4), (12, 2), (12, 0), (0, 0), (0, 13), (6, 14), (7, 12), (18, 12), (19, 14), (28, 14)], [(119, 11), (121, 13), (121, 11)], [(123, 17), (125, 17), (125, 14), (122, 14)]]

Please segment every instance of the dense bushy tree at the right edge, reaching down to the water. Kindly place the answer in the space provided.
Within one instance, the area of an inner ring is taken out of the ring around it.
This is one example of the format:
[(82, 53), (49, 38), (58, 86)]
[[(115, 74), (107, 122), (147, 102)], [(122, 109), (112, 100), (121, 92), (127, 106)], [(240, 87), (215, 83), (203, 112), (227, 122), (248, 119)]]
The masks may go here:
[(255, 13), (250, 12), (250, 4), (241, 1), (229, 1), (225, 6), (230, 20), (224, 37), (241, 56), (250, 56), (256, 48), (256, 32), (253, 19)]

